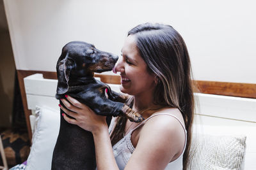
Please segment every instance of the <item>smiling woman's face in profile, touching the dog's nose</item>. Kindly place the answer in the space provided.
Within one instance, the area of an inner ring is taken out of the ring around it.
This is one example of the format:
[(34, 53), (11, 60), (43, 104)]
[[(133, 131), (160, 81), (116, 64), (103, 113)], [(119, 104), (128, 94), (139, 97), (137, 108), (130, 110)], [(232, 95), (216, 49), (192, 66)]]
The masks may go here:
[(155, 76), (148, 73), (147, 64), (138, 52), (134, 35), (129, 35), (125, 39), (122, 57), (116, 63), (115, 71), (120, 72), (120, 90), (123, 93), (138, 96), (152, 93), (156, 87)]

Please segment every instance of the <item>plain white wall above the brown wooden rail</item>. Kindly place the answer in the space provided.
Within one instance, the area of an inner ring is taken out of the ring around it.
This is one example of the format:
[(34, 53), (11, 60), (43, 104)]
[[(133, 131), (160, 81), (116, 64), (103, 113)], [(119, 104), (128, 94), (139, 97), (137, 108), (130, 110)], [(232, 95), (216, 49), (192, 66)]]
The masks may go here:
[(120, 54), (143, 22), (185, 39), (196, 80), (256, 83), (254, 1), (4, 0), (17, 69), (55, 71), (63, 45), (81, 40)]

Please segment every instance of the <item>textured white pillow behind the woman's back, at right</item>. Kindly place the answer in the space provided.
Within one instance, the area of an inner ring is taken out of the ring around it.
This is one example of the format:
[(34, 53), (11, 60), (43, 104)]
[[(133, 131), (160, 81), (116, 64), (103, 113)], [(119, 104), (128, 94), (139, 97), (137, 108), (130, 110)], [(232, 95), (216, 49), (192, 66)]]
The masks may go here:
[(241, 169), (245, 141), (246, 136), (195, 135), (191, 141), (188, 169)]

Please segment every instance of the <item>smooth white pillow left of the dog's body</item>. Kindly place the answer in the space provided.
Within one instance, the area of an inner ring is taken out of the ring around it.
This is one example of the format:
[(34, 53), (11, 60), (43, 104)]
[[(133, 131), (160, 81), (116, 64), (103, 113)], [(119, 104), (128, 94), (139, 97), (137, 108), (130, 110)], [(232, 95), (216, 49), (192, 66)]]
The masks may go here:
[(35, 127), (26, 170), (51, 169), (52, 153), (60, 130), (60, 110), (37, 107)]

